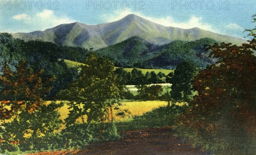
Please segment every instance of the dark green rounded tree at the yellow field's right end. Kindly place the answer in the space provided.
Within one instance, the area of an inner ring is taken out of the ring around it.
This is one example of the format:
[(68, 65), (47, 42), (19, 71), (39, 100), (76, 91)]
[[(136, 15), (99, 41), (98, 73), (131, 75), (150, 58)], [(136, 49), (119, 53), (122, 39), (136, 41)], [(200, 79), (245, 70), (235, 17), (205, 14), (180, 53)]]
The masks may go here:
[(175, 100), (191, 100), (192, 85), (191, 82), (198, 73), (198, 68), (189, 60), (184, 60), (177, 65), (174, 76), (171, 79), (171, 96)]

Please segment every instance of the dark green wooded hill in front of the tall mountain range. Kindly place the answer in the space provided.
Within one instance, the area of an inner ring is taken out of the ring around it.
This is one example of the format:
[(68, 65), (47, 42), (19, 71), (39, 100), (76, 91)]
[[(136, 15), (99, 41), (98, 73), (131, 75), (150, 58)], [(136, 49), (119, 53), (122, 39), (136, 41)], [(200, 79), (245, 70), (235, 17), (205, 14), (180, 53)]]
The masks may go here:
[(108, 57), (115, 66), (138, 68), (173, 69), (182, 60), (190, 60), (199, 68), (205, 68), (214, 60), (208, 58), (205, 44), (213, 44), (215, 40), (202, 38), (191, 42), (173, 41), (164, 45), (156, 45), (141, 37), (130, 37), (121, 43), (98, 49), (99, 56)]

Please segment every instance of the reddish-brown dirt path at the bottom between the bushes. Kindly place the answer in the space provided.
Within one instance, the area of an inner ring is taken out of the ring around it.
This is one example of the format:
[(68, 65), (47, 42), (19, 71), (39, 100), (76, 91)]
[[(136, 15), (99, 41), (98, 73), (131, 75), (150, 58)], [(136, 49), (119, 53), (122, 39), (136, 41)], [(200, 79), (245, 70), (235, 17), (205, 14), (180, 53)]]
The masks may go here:
[(76, 155), (210, 155), (181, 144), (172, 129), (143, 129), (120, 133), (122, 140), (93, 144)]

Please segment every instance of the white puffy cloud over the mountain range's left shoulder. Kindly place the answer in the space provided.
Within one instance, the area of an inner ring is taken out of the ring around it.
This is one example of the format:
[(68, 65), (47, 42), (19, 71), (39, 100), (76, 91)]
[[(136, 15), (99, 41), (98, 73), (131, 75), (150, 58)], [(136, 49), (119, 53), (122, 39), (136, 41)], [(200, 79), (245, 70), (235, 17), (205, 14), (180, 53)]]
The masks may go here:
[(74, 23), (76, 22), (73, 19), (70, 19), (65, 16), (58, 17), (54, 14), (52, 10), (43, 10), (42, 12), (36, 13), (34, 15), (27, 15), (27, 14), (18, 14), (13, 17), (16, 20), (26, 19), (24, 20), (24, 24), (27, 27), (32, 27), (29, 31), (36, 31), (36, 30), (45, 30), (52, 28), (54, 26), (58, 26), (64, 23)]

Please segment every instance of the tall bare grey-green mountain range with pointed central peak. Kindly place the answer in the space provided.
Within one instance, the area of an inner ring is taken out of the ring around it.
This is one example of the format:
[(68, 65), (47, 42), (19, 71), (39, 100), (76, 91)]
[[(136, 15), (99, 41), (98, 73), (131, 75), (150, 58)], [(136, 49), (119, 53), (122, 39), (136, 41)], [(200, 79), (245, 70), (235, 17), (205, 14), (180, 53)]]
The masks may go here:
[(211, 37), (217, 42), (241, 44), (246, 40), (236, 37), (225, 37), (221, 34), (205, 31), (199, 28), (180, 29), (162, 26), (145, 20), (134, 14), (129, 14), (121, 20), (98, 25), (83, 23), (61, 24), (45, 31), (12, 34), (23, 40), (43, 40), (62, 46), (78, 46), (86, 49), (100, 49), (120, 43), (132, 36), (140, 36), (148, 43), (163, 45), (175, 40), (199, 40), (201, 37)]

